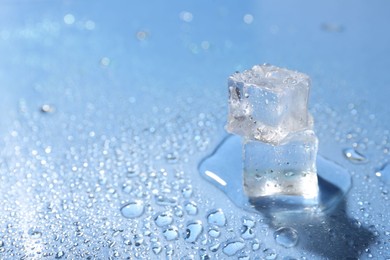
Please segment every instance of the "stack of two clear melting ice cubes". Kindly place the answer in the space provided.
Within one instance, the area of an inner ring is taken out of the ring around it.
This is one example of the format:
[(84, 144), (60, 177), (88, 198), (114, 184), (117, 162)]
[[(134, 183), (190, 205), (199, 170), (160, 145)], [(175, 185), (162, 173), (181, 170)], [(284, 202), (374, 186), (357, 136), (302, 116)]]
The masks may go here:
[(229, 77), (226, 129), (243, 137), (249, 197), (318, 194), (318, 139), (307, 109), (310, 78), (272, 65)]

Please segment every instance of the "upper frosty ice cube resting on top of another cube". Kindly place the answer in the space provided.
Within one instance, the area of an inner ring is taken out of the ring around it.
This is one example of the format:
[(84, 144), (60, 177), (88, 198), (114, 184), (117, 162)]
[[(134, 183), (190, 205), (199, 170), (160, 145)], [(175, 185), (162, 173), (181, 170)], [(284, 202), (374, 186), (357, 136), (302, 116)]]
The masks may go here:
[(312, 128), (307, 111), (307, 75), (272, 65), (256, 65), (230, 76), (228, 85), (228, 132), (279, 144), (291, 132)]

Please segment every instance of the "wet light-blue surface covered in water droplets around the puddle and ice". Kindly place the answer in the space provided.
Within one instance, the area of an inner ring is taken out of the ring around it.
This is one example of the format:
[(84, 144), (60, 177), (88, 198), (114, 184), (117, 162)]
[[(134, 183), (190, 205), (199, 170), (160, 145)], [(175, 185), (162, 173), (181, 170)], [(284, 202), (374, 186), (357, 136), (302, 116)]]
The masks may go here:
[[(2, 1), (0, 258), (389, 258), (389, 8)], [(225, 135), (227, 77), (264, 62), (312, 78), (319, 153), (352, 176), (334, 215), (248, 213), (197, 172)], [(282, 227), (295, 246), (274, 239)]]

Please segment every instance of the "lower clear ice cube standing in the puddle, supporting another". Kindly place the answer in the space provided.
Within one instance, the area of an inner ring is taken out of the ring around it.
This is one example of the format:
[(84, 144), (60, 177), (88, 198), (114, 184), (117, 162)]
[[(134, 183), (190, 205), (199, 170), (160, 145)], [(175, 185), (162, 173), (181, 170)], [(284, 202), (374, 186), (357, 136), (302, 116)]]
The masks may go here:
[(244, 190), (252, 198), (318, 194), (316, 156), (318, 139), (312, 130), (292, 133), (280, 145), (246, 140)]

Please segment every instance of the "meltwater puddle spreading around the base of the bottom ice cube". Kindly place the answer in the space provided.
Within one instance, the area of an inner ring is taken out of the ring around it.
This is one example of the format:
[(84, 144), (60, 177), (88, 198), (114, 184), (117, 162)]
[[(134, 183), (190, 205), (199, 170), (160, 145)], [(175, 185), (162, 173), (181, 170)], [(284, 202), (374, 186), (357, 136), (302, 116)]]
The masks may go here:
[(300, 201), (293, 198), (293, 203), (290, 203), (291, 198), (284, 198), (283, 201), (274, 198), (253, 199), (243, 190), (242, 163), (241, 137), (229, 135), (210, 156), (201, 161), (199, 171), (203, 178), (223, 191), (238, 207), (247, 211), (281, 209), (324, 212), (337, 206), (351, 187), (351, 176), (346, 169), (318, 155), (318, 203), (306, 203), (303, 198)]

